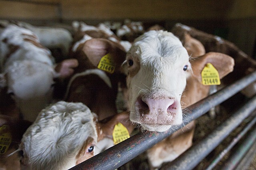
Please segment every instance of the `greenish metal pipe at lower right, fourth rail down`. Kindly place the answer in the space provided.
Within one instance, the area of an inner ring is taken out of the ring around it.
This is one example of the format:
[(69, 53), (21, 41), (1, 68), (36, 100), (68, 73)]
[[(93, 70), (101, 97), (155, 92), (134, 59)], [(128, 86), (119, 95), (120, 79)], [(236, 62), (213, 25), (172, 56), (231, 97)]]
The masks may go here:
[(233, 170), (238, 166), (240, 160), (246, 155), (246, 152), (250, 150), (254, 142), (256, 141), (256, 127), (248, 134), (248, 137), (239, 145), (239, 147), (232, 152), (232, 155), (225, 162), (222, 170)]

